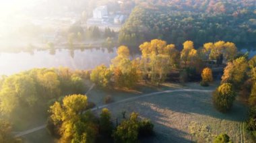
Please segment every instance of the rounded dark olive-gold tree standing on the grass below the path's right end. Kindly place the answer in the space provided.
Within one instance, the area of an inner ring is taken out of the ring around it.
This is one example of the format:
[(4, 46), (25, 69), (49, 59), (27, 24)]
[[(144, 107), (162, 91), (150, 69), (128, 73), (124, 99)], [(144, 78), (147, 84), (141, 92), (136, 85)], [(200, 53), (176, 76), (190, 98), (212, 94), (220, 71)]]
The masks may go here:
[(218, 111), (225, 113), (232, 107), (235, 96), (232, 84), (224, 83), (213, 93), (214, 106)]

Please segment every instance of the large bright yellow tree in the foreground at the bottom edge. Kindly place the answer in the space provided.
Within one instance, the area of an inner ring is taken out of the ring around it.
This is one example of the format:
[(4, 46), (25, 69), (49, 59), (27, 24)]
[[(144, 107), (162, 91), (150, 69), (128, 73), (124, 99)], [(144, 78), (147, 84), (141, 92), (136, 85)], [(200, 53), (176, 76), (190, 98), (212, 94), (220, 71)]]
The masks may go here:
[(69, 95), (50, 107), (53, 124), (60, 126), (61, 142), (94, 142), (98, 127), (92, 113), (83, 114), (87, 106), (86, 95)]

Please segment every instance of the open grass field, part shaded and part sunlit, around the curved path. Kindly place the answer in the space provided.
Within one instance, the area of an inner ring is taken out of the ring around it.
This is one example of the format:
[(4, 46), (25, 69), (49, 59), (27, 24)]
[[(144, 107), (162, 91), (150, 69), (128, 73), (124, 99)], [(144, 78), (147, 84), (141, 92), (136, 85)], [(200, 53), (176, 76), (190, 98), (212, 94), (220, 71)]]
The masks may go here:
[[(89, 101), (97, 106), (104, 105), (106, 95), (112, 95), (114, 102), (130, 97), (139, 97), (141, 94), (172, 89), (207, 89), (214, 90), (218, 83), (210, 87), (201, 87), (199, 83), (185, 85), (165, 83), (161, 87), (139, 85), (134, 91), (102, 91), (92, 89), (88, 93)], [(250, 142), (245, 134), (243, 121), (247, 116), (247, 107), (236, 101), (229, 113), (223, 114), (212, 105), (212, 93), (184, 92), (162, 93), (149, 97), (109, 105), (113, 114), (113, 122), (122, 120), (122, 111), (128, 117), (131, 111), (139, 113), (140, 117), (152, 120), (156, 136), (145, 138), (142, 142), (212, 142), (220, 133), (226, 133), (233, 142)], [(96, 111), (99, 113), (99, 111)], [(24, 136), (26, 142), (54, 142), (46, 133), (40, 130)]]

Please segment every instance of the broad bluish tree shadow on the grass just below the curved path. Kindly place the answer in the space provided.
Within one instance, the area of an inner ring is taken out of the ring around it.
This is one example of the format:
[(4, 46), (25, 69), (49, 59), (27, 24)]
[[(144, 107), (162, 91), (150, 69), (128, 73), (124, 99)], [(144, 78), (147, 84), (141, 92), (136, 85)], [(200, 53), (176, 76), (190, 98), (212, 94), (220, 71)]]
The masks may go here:
[[(147, 97), (145, 99), (139, 99), (138, 102), (140, 105), (143, 102), (150, 103), (150, 107), (146, 107), (147, 110), (150, 110), (150, 113), (158, 112), (154, 110), (154, 106), (157, 106), (158, 109), (168, 109), (172, 112), (188, 114), (197, 113), (200, 115), (215, 117), (220, 120), (242, 122), (247, 117), (247, 107), (238, 102), (234, 102), (232, 109), (228, 113), (220, 113), (212, 104), (211, 93), (165, 93), (162, 95)], [(154, 113), (154, 115), (160, 117), (158, 113)]]

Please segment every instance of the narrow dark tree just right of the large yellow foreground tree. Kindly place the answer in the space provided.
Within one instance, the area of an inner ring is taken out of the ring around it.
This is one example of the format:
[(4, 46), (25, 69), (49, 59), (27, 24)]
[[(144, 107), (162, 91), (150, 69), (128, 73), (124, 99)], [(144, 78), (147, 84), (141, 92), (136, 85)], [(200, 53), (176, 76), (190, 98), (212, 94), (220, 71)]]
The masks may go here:
[(103, 108), (100, 113), (100, 133), (110, 136), (113, 130), (113, 124), (111, 122), (110, 111), (107, 108)]

